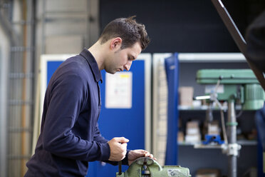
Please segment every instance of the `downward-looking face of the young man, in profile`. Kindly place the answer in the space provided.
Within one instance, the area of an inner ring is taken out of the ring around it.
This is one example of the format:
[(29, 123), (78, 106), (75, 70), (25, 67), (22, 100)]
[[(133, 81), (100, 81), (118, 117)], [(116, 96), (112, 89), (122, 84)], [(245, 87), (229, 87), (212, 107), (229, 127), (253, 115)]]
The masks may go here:
[(129, 71), (132, 62), (137, 59), (141, 51), (140, 42), (136, 42), (132, 47), (126, 49), (120, 49), (120, 46), (118, 46), (118, 49), (110, 56), (108, 63), (105, 64), (105, 71), (110, 74), (123, 70)]

